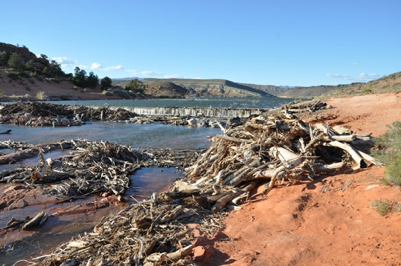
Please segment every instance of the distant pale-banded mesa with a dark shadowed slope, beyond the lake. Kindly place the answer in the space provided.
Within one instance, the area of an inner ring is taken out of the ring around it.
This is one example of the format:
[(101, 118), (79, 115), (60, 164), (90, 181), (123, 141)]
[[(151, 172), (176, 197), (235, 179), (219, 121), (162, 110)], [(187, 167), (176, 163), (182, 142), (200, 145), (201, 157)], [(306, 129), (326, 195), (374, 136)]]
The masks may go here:
[(196, 96), (229, 96), (229, 97), (269, 97), (263, 90), (251, 88), (229, 80), (197, 80), (197, 79), (154, 79), (143, 80), (145, 84), (152, 86), (157, 82), (171, 82), (189, 91)]

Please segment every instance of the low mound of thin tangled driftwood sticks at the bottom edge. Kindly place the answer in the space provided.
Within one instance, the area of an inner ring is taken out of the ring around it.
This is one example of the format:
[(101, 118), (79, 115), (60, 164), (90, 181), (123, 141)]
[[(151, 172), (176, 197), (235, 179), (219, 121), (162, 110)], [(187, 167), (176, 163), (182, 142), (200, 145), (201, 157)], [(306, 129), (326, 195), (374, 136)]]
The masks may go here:
[[(152, 199), (128, 206), (100, 221), (93, 232), (73, 237), (37, 265), (190, 265), (193, 248), (189, 223), (218, 230), (222, 214), (192, 203)], [(206, 230), (205, 230), (206, 231)]]

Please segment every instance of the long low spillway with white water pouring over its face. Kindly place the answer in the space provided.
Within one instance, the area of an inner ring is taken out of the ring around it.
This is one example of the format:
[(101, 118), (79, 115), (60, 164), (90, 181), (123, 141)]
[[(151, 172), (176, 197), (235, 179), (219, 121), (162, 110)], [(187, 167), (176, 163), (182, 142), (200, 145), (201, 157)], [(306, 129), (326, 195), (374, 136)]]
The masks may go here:
[[(115, 106), (110, 106), (112, 109), (116, 109)], [(253, 109), (253, 108), (211, 108), (211, 107), (132, 107), (132, 106), (120, 106), (130, 112), (136, 114), (146, 115), (168, 115), (182, 117), (190, 115), (193, 117), (205, 116), (205, 117), (249, 117), (251, 114), (260, 114), (265, 109)]]

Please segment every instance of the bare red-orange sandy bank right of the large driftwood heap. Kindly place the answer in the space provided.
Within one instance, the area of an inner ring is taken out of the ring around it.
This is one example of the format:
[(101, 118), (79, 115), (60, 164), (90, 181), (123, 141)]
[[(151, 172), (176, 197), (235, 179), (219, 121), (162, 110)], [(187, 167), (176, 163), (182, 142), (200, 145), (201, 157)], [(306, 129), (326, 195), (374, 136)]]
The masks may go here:
[[(401, 120), (401, 94), (327, 102), (333, 109), (315, 116), (358, 133), (378, 136)], [(370, 167), (277, 185), (225, 219), (215, 239), (236, 240), (208, 240), (201, 244), (211, 252), (195, 253), (211, 255), (203, 265), (401, 265), (401, 212), (380, 216), (371, 207), (375, 199), (401, 201), (400, 187), (380, 182), (384, 173)]]

